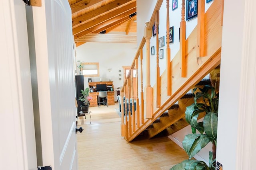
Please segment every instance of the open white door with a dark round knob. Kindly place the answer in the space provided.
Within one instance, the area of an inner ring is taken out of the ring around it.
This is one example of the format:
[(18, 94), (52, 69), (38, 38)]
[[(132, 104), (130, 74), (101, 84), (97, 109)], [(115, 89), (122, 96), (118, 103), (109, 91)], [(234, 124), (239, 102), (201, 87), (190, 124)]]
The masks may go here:
[(42, 0), (42, 7), (33, 7), (33, 22), (42, 166), (77, 169), (74, 44), (68, 1)]

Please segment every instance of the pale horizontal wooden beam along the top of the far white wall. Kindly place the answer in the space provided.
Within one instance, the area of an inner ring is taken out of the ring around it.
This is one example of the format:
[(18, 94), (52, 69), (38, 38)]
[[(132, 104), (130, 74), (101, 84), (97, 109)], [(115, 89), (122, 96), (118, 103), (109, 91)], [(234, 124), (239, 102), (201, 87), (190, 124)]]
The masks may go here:
[(97, 42), (97, 43), (137, 43), (136, 35), (116, 35), (116, 34), (88, 34), (76, 42)]

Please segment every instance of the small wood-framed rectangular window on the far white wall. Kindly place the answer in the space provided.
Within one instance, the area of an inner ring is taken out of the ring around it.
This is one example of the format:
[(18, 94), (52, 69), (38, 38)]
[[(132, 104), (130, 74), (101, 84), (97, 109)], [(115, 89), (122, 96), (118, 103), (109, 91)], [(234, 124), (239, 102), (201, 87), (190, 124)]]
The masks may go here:
[(84, 77), (97, 77), (100, 76), (99, 63), (83, 63)]

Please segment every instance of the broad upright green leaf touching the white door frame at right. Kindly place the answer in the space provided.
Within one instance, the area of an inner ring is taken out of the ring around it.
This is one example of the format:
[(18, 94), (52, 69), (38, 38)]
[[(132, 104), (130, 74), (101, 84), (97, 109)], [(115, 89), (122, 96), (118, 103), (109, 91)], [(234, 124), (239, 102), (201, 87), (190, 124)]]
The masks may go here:
[(209, 112), (204, 117), (204, 131), (206, 135), (217, 139), (218, 114)]

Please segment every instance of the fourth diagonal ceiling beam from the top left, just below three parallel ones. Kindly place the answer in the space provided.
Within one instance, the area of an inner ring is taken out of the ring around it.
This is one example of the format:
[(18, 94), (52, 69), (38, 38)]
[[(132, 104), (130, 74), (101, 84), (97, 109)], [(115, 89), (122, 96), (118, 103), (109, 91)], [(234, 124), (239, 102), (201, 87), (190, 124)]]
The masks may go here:
[[(80, 37), (82, 37), (84, 35), (87, 35), (87, 34), (92, 33), (92, 32), (94, 32), (94, 31), (96, 31), (98, 29), (106, 27), (106, 26), (110, 25), (111, 23), (117, 22), (117, 21), (121, 20), (122, 18), (124, 18), (126, 16), (129, 16), (130, 14), (132, 14), (134, 12), (136, 12), (136, 8), (128, 10), (128, 11), (124, 12), (123, 14), (120, 14), (120, 15), (116, 16), (115, 18), (112, 18), (110, 20), (104, 21), (103, 23), (95, 25), (94, 27), (92, 27), (92, 29), (90, 29), (90, 27), (89, 27), (88, 29), (85, 29), (84, 31), (75, 34), (74, 35), (74, 39), (76, 40), (76, 39), (78, 39), (78, 38), (80, 38)], [(87, 25), (87, 24), (85, 24), (85, 25)], [(75, 29), (73, 29), (73, 33), (74, 33), (74, 31), (75, 31)]]

